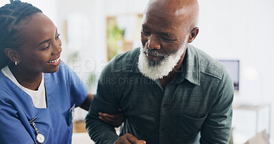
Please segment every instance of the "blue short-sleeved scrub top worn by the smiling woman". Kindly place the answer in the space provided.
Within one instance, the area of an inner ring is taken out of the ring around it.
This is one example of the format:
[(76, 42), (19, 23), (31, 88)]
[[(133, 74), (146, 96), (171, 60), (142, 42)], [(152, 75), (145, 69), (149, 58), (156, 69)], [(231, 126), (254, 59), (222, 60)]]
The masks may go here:
[(32, 98), (0, 70), (0, 143), (36, 143), (36, 126), (44, 143), (71, 143), (73, 124), (69, 109), (79, 106), (87, 96), (80, 78), (64, 62), (58, 72), (44, 74), (47, 109), (38, 109)]

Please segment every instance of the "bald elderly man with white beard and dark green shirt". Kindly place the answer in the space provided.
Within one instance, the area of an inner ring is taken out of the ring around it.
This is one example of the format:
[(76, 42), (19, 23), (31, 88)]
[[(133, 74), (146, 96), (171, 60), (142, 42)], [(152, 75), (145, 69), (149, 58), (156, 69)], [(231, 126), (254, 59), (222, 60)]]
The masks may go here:
[[(197, 0), (151, 0), (142, 48), (117, 55), (101, 73), (86, 129), (97, 143), (228, 143), (232, 79), (224, 66), (191, 46)], [(125, 121), (118, 136), (102, 113)], [(141, 141), (144, 140), (144, 141)]]

